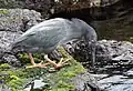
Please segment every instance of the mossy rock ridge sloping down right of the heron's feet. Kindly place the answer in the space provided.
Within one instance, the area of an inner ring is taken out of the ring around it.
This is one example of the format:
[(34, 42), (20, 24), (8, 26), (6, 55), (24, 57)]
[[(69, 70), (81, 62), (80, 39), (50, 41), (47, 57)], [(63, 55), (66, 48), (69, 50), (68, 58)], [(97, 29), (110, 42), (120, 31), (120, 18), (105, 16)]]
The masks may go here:
[(75, 89), (72, 84), (71, 79), (79, 73), (85, 72), (85, 69), (81, 63), (76, 62), (62, 47), (59, 48), (63, 58), (70, 59), (69, 65), (60, 69), (60, 71), (50, 73), (47, 78), (50, 79), (51, 89), (50, 91), (70, 91)]

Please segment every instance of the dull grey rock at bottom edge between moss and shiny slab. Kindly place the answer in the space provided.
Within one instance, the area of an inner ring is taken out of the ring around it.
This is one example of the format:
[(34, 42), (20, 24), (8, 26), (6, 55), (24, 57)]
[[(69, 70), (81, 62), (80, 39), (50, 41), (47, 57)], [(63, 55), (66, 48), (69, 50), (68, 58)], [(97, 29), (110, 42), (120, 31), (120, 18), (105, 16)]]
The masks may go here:
[(84, 90), (100, 91), (98, 81), (89, 72), (81, 73), (81, 74), (76, 75), (72, 80), (72, 82), (74, 85), (78, 87), (74, 91), (84, 91)]

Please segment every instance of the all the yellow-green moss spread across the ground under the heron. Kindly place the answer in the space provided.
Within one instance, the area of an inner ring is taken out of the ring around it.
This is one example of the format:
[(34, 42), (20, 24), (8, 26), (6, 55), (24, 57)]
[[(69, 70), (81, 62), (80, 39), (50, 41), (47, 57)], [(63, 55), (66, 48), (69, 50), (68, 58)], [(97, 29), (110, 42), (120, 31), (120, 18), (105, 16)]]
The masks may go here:
[[(64, 65), (62, 69), (57, 71), (50, 71), (49, 68), (24, 69), (13, 68), (6, 63), (0, 65), (0, 81), (3, 81), (4, 85), (11, 88), (11, 91), (24, 91), (24, 87), (29, 82), (39, 78), (42, 78), (47, 85), (44, 85), (43, 89), (34, 89), (33, 91), (73, 90), (75, 87), (72, 84), (71, 79), (79, 73), (84, 72), (85, 69), (79, 62), (76, 62), (62, 47), (59, 48), (59, 51), (62, 53), (64, 60), (70, 60), (68, 61), (68, 65)], [(34, 57), (37, 57), (38, 59), (42, 59), (42, 55), (39, 54), (34, 54)], [(22, 59), (29, 60), (27, 54), (24, 54), (24, 58)]]

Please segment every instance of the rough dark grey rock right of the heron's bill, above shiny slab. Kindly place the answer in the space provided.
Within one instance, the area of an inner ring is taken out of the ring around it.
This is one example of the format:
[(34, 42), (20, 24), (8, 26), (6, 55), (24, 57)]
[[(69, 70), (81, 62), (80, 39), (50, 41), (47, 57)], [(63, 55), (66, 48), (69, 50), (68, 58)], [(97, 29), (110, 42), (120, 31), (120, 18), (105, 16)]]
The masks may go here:
[[(98, 65), (108, 71), (127, 71), (133, 65), (133, 44), (127, 41), (102, 40), (98, 42)], [(104, 59), (103, 59), (104, 58)]]

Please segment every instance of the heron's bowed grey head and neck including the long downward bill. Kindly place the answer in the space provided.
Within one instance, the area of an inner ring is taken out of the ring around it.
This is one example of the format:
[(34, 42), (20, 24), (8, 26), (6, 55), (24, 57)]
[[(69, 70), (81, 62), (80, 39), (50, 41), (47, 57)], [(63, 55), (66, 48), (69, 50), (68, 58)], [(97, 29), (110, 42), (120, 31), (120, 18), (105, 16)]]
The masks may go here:
[(81, 38), (83, 37), (85, 39), (85, 43), (88, 44), (88, 48), (91, 49), (92, 61), (93, 61), (92, 67), (94, 67), (95, 48), (96, 48), (96, 40), (98, 40), (96, 32), (92, 27), (90, 27), (83, 20), (72, 19), (72, 21), (76, 27), (76, 33), (74, 33), (74, 36), (81, 37)]

